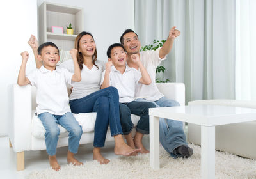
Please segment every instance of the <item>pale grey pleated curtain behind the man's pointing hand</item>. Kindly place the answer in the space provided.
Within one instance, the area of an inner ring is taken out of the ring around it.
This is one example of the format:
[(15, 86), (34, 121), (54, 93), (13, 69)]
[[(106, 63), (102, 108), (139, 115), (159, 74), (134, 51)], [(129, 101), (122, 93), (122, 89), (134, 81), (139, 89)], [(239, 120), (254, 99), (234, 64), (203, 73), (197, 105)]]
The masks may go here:
[(141, 45), (181, 35), (164, 61), (166, 78), (184, 82), (186, 102), (235, 98), (236, 0), (135, 0)]

